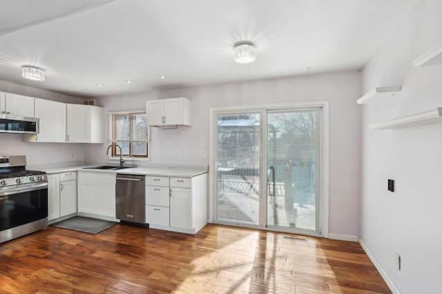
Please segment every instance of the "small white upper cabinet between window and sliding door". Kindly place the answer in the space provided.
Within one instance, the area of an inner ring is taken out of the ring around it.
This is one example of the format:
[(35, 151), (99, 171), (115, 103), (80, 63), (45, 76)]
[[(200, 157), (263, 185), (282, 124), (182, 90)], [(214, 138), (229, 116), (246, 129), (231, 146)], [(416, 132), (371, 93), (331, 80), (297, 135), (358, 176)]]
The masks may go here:
[(187, 98), (171, 98), (146, 101), (148, 125), (192, 125), (191, 101)]

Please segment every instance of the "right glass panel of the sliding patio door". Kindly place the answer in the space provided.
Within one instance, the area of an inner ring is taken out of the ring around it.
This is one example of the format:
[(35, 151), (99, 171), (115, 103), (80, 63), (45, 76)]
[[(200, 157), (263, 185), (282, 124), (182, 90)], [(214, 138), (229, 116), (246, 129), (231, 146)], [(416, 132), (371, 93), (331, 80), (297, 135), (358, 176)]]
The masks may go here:
[(318, 231), (318, 111), (267, 113), (267, 226)]

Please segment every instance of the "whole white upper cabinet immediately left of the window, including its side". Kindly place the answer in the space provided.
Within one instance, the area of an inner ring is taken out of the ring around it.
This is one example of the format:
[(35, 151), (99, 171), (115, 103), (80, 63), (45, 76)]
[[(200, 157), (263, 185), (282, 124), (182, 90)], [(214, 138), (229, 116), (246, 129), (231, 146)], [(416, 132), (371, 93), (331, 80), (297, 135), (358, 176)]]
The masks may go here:
[(66, 142), (103, 143), (104, 109), (93, 105), (66, 105)]

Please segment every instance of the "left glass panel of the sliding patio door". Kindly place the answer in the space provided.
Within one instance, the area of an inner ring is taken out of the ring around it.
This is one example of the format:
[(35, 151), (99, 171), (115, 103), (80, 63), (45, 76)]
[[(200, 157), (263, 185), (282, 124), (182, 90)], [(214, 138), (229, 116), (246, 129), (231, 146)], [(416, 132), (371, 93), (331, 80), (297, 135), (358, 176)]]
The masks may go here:
[(217, 218), (259, 224), (260, 114), (217, 118)]

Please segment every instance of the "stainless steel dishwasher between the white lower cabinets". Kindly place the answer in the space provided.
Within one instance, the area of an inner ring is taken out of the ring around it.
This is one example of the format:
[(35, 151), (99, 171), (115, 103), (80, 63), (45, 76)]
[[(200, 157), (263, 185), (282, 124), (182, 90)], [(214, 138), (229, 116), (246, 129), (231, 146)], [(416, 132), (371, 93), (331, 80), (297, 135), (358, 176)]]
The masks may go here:
[(117, 219), (146, 226), (146, 176), (117, 174)]

